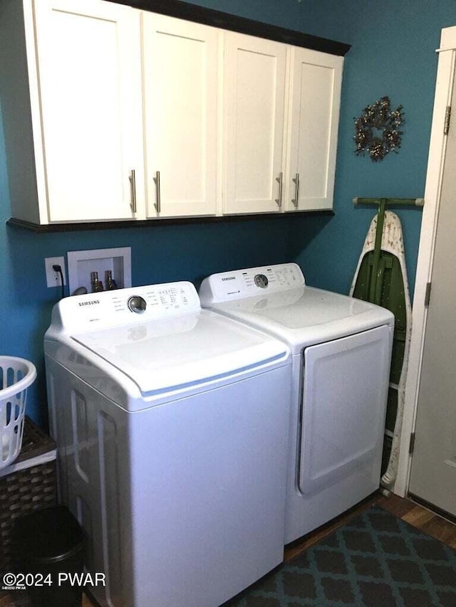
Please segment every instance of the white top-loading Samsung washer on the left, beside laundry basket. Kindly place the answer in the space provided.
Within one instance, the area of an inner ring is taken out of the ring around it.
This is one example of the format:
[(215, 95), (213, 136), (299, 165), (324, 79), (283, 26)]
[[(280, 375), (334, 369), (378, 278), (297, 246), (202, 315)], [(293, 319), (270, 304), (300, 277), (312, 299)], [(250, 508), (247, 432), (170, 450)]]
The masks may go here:
[(217, 607), (281, 562), (286, 345), (182, 282), (63, 299), (44, 349), (61, 501), (101, 605)]

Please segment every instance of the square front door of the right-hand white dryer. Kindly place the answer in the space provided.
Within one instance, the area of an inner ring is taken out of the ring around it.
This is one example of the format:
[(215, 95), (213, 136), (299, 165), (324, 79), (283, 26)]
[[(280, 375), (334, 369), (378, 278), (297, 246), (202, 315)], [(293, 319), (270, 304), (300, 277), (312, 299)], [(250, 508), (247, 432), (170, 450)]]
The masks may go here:
[(380, 482), (390, 329), (304, 350), (299, 490), (309, 494), (366, 468)]

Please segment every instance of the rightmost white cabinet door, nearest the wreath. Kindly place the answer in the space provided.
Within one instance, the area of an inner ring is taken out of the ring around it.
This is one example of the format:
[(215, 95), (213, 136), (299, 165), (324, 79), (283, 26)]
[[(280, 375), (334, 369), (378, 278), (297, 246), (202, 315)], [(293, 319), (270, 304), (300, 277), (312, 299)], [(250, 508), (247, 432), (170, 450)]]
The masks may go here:
[(342, 68), (342, 57), (291, 49), (286, 211), (333, 208)]

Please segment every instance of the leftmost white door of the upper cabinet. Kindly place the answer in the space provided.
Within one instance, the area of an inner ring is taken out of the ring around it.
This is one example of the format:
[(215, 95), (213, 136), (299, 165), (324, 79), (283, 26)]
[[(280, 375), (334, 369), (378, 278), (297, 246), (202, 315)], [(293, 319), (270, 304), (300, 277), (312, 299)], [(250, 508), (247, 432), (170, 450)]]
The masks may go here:
[(140, 11), (36, 0), (49, 221), (134, 218), (143, 179)]

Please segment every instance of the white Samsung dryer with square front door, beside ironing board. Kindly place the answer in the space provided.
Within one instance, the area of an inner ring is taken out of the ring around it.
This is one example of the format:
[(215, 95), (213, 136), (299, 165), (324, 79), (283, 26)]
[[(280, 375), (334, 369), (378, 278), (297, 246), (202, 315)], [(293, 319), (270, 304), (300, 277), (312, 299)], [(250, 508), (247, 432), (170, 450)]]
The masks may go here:
[(294, 263), (214, 274), (199, 297), (291, 347), (285, 543), (378, 489), (391, 312), (306, 286)]

